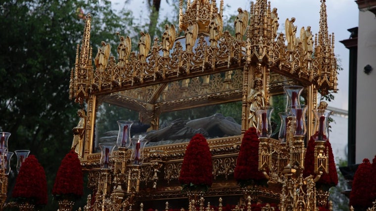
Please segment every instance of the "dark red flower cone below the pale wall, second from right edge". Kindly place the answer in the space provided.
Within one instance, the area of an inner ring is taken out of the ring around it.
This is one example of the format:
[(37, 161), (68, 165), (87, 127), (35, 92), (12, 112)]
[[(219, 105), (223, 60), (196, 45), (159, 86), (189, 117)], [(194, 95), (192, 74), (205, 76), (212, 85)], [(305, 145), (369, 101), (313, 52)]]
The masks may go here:
[(370, 176), (371, 168), (370, 160), (365, 158), (355, 171), (350, 192), (350, 206), (355, 210), (366, 210), (372, 206), (370, 183), (374, 178)]

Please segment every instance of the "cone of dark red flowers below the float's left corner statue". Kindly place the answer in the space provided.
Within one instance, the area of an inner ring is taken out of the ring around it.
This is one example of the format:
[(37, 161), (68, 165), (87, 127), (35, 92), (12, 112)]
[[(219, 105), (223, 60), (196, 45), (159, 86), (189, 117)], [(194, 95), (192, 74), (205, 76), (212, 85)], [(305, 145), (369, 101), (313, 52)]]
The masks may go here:
[(84, 173), (78, 155), (71, 150), (65, 155), (57, 170), (52, 195), (55, 197), (69, 195), (79, 198), (83, 195)]

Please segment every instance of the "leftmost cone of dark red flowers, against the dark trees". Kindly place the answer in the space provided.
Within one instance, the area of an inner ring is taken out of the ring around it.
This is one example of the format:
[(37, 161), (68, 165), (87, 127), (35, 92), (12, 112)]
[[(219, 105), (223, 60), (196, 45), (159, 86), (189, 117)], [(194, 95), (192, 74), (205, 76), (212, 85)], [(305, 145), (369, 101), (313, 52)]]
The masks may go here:
[(47, 204), (45, 169), (34, 155), (29, 155), (22, 163), (12, 197), (37, 206)]

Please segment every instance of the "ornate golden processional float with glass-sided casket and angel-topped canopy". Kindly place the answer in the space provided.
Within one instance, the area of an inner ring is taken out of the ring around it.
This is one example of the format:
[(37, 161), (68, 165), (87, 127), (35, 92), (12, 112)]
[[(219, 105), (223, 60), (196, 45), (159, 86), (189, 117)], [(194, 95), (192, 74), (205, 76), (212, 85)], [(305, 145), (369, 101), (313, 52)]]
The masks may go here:
[[(148, 33), (141, 32), (139, 52), (131, 52), (135, 43), (121, 36), (117, 56), (110, 56), (110, 45), (105, 42), (94, 56), (92, 17), (87, 16), (69, 91), (70, 99), (87, 105), (73, 143), (93, 190), (84, 210), (194, 210), (197, 205), (203, 211), (211, 210), (209, 203), (218, 210), (225, 204), (251, 210), (254, 203), (265, 204), (263, 211), (313, 211), (319, 206), (332, 210), (329, 192), (315, 187), (320, 175), (328, 172), (329, 163), (325, 147), (329, 112), (325, 102), (318, 105), (318, 94), (336, 91), (337, 85), (334, 35), (328, 34), (325, 0), (321, 0), (316, 35), (309, 26), (294, 26), (295, 18), (286, 19), (281, 24), (284, 29), (279, 28), (277, 8), (267, 0), (256, 0), (250, 11), (238, 8), (233, 36), (223, 31), (223, 5), (223, 0), (219, 9), (215, 0), (188, 0), (184, 11), (180, 0), (178, 27), (166, 25), (161, 39), (156, 37), (153, 42)], [(178, 30), (185, 36), (177, 37)], [(277, 33), (279, 30), (283, 33)], [(281, 115), (282, 132), (273, 138), (271, 122), (281, 120), (271, 121), (270, 107), (275, 104), (273, 99), (283, 96), (287, 96), (283, 102), (287, 102), (287, 113)], [(233, 102), (241, 105), (240, 124), (218, 114), (170, 126), (160, 122), (169, 112)], [(136, 112), (138, 127), (150, 126), (146, 137), (139, 134), (130, 145), (129, 132), (136, 123), (128, 121), (118, 121), (116, 134), (99, 131), (98, 118), (106, 115), (98, 112), (103, 104)], [(214, 181), (196, 201), (190, 197), (188, 202), (178, 181), (189, 138), (169, 141), (181, 135), (173, 127), (185, 128), (184, 134), (210, 129), (223, 132), (207, 140)], [(247, 189), (235, 181), (234, 169), (249, 127), (258, 130), (258, 169), (268, 186)], [(314, 159), (310, 160), (315, 175), (303, 177), (306, 145), (317, 132)], [(102, 137), (104, 133), (107, 138)], [(154, 140), (152, 145), (145, 145), (147, 138)], [(271, 207), (272, 203), (277, 207)]]

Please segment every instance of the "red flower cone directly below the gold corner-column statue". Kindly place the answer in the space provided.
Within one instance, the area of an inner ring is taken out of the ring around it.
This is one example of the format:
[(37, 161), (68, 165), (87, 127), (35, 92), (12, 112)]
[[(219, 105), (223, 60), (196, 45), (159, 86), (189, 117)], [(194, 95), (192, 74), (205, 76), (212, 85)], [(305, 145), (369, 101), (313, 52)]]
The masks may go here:
[(266, 185), (268, 181), (258, 170), (259, 143), (255, 127), (250, 127), (245, 131), (234, 170), (234, 177), (242, 187), (251, 184)]

